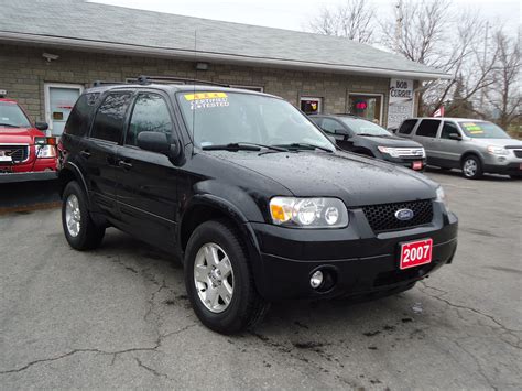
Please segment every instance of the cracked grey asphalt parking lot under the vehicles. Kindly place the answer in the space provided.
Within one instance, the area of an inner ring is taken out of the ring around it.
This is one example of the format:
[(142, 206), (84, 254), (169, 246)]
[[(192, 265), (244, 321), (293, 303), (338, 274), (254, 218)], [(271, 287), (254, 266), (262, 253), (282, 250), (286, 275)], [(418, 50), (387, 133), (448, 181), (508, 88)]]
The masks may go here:
[(58, 209), (0, 216), (1, 389), (520, 389), (522, 184), (428, 172), (460, 219), (454, 263), (412, 291), (286, 302), (221, 336), (167, 254), (108, 230), (66, 243)]

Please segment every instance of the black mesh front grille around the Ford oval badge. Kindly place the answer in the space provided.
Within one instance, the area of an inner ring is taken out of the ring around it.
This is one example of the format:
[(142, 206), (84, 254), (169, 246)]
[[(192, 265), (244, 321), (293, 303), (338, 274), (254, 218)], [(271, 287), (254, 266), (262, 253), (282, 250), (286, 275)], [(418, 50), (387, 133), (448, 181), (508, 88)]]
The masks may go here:
[[(395, 211), (411, 209), (413, 218), (399, 220)], [(431, 199), (414, 200), (410, 203), (381, 204), (363, 206), (362, 210), (374, 232), (393, 231), (429, 224), (433, 220), (433, 203)]]

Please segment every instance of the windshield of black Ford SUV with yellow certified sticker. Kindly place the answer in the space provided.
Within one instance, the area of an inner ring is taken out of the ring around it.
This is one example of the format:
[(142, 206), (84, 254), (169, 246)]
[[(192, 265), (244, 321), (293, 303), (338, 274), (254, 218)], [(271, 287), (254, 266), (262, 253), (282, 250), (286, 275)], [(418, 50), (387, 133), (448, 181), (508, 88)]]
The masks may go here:
[(279, 98), (230, 91), (185, 91), (177, 94), (177, 98), (188, 131), (199, 148), (255, 143), (335, 150), (304, 115)]

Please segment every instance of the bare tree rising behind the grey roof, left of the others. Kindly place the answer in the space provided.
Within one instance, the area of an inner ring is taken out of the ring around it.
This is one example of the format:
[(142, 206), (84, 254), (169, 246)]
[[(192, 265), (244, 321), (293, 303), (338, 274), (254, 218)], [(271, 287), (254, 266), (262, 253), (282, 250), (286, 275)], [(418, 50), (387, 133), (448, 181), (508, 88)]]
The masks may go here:
[(309, 29), (318, 34), (347, 37), (370, 43), (373, 39), (374, 9), (363, 0), (346, 0), (335, 7), (323, 7), (309, 22)]

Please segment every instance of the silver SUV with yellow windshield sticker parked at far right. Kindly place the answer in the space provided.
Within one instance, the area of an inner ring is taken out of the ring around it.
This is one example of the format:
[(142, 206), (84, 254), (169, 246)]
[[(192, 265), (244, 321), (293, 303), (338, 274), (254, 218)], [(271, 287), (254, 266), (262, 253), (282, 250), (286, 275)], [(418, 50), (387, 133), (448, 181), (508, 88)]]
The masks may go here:
[(522, 177), (522, 141), (494, 123), (465, 118), (412, 118), (396, 133), (426, 149), (427, 164), (460, 169), (469, 180), (483, 173)]

